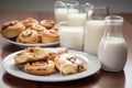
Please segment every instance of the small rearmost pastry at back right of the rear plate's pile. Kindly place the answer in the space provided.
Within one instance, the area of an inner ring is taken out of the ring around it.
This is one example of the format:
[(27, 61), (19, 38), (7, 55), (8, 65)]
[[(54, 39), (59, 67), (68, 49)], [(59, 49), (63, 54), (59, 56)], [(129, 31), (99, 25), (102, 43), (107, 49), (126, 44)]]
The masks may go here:
[(53, 20), (42, 20), (40, 24), (51, 30), (55, 25), (55, 22)]

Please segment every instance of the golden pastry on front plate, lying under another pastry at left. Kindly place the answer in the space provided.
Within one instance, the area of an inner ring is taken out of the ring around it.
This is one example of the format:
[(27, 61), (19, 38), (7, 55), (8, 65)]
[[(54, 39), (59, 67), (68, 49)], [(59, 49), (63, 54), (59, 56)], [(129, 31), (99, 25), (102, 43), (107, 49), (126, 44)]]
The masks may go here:
[(32, 75), (51, 75), (55, 73), (55, 64), (50, 59), (26, 63), (24, 65), (24, 72)]

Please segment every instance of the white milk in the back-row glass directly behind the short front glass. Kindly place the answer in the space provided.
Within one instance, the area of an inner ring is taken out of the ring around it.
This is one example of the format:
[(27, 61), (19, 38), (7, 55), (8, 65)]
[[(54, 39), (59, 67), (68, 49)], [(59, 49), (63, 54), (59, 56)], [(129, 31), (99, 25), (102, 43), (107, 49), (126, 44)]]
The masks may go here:
[(86, 22), (86, 13), (68, 13), (67, 20), (70, 25), (82, 26)]

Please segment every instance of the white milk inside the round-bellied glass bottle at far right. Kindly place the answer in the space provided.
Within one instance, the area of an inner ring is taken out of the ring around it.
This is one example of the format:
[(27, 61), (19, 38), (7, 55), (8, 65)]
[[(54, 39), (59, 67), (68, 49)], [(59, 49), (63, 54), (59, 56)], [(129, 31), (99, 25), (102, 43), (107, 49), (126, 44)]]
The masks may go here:
[(123, 69), (127, 54), (127, 45), (123, 38), (107, 37), (99, 44), (98, 59), (102, 63), (105, 70), (119, 72)]

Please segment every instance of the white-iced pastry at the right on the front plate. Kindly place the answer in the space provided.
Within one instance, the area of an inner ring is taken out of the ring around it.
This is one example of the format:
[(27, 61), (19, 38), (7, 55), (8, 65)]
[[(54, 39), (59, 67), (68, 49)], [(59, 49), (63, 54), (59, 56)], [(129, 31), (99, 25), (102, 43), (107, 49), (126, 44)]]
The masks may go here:
[(68, 53), (56, 56), (55, 65), (56, 68), (65, 75), (86, 70), (84, 62), (80, 61), (77, 56)]

